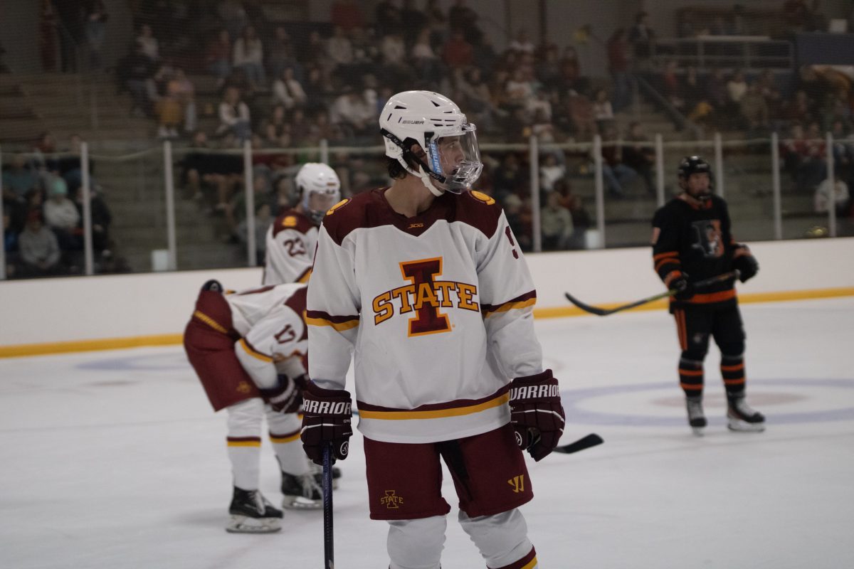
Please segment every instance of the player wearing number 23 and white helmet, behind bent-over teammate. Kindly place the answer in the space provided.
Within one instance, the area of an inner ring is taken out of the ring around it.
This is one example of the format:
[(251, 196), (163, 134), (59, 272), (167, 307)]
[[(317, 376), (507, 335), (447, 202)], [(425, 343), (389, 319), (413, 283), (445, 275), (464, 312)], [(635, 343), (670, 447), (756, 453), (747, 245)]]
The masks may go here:
[(341, 181), (328, 165), (308, 163), (296, 173), (299, 203), (280, 213), (266, 232), (264, 284), (308, 282), (318, 226), (341, 199)]

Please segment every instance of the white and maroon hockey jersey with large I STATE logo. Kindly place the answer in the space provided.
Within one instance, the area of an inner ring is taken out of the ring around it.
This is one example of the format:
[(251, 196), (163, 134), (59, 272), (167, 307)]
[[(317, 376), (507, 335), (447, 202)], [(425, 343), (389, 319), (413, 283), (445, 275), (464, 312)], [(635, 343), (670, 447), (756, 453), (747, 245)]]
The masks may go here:
[(375, 189), (319, 231), (308, 287), (309, 375), (343, 388), (354, 351), (359, 430), (427, 443), (510, 420), (514, 377), (542, 371), (534, 284), (504, 212), (445, 194), (406, 218)]

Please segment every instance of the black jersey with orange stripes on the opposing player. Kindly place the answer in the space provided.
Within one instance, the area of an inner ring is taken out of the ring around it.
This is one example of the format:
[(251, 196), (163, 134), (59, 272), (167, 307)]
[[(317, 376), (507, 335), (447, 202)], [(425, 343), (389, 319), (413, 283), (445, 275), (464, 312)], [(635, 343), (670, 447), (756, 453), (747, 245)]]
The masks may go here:
[[(652, 218), (652, 262), (668, 287), (682, 275), (689, 282), (697, 282), (732, 270), (738, 248), (730, 231), (727, 202), (717, 195), (705, 202), (678, 195), (658, 208)], [(733, 285), (731, 279), (703, 287), (691, 299), (671, 297), (671, 309), (678, 305), (734, 304)]]

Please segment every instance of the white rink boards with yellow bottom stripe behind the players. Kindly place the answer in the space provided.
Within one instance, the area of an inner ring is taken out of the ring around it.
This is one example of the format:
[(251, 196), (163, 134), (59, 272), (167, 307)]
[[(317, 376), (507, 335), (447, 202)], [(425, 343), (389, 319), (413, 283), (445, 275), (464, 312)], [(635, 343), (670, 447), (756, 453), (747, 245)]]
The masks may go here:
[[(751, 248), (761, 270), (739, 286), (742, 302), (854, 295), (854, 238), (765, 241)], [(565, 291), (607, 305), (663, 290), (646, 247), (527, 259), (537, 317), (580, 315)], [(176, 344), (203, 282), (216, 278), (242, 289), (257, 286), (260, 277), (260, 269), (248, 268), (0, 282), (0, 357)]]

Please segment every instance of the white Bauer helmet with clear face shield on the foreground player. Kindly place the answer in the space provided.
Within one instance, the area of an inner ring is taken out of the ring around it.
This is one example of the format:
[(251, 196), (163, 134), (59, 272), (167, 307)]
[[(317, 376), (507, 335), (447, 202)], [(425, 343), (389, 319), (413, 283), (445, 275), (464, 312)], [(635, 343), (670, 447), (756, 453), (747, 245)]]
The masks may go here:
[[(483, 170), (475, 125), (446, 96), (432, 91), (391, 96), (379, 117), (379, 127), (385, 155), (421, 178), (433, 195), (471, 189)], [(415, 144), (424, 154), (412, 152)], [(413, 169), (412, 162), (420, 168)]]

